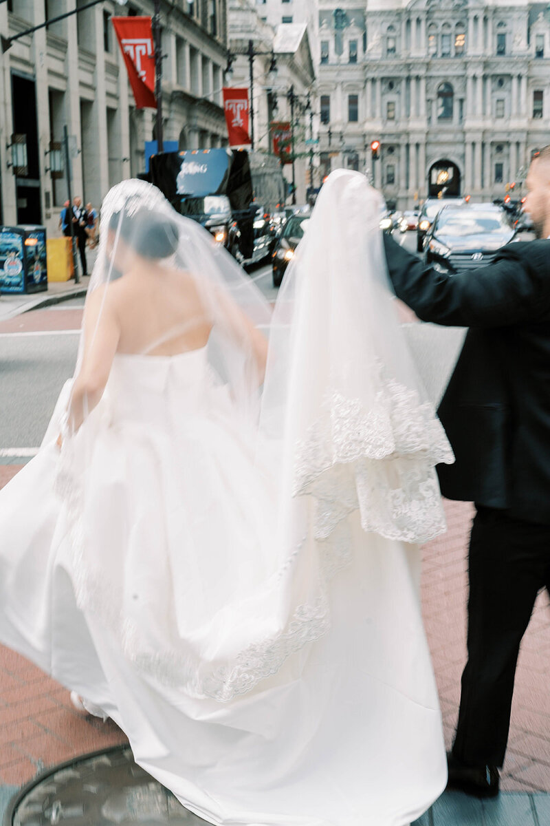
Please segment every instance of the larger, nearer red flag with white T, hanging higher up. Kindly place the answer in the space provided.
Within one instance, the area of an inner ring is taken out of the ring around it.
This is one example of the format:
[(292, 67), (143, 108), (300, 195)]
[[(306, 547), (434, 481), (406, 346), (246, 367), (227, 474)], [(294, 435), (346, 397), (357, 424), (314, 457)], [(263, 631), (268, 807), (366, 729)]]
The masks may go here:
[(111, 17), (138, 109), (157, 107), (155, 48), (150, 17)]

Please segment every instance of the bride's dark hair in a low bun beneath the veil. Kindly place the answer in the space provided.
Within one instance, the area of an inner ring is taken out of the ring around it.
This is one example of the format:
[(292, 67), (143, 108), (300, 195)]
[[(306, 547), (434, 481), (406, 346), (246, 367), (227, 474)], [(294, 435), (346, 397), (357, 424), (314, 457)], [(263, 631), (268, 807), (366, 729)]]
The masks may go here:
[(165, 259), (176, 252), (179, 235), (176, 225), (148, 209), (139, 209), (131, 216), (125, 209), (113, 212), (109, 229), (135, 253), (145, 259)]

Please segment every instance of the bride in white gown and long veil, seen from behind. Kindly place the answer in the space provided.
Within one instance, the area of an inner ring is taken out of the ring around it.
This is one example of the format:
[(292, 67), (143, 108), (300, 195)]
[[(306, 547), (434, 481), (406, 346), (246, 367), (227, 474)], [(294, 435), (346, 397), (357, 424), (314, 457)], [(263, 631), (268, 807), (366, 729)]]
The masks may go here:
[(452, 454), (378, 214), (332, 173), (272, 314), (156, 189), (115, 187), (75, 378), (0, 493), (0, 640), (220, 826), (402, 826), (444, 789), (415, 543)]

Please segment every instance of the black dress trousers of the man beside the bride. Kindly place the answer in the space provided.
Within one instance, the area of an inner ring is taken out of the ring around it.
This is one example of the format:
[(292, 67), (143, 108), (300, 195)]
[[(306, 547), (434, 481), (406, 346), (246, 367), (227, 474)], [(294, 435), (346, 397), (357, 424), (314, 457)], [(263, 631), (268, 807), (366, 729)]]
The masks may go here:
[(550, 525), (478, 506), (469, 579), (468, 663), (453, 753), (469, 766), (501, 767), (519, 643), (538, 591), (550, 591)]

